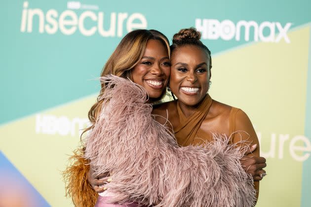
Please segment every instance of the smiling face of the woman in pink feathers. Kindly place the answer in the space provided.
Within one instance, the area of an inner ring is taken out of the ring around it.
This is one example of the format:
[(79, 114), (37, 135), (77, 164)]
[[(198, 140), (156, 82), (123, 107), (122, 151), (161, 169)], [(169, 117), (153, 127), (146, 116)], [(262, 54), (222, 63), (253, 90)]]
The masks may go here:
[(150, 39), (142, 59), (132, 69), (134, 83), (143, 86), (151, 100), (160, 98), (170, 75), (170, 61), (161, 41)]

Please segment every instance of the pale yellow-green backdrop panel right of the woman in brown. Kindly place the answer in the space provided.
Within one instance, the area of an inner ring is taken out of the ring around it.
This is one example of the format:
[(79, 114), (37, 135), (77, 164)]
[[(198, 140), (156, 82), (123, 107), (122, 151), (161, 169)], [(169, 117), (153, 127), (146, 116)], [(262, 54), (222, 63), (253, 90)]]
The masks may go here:
[[(291, 43), (250, 43), (215, 55), (212, 97), (250, 116), (267, 173), (258, 207), (300, 206), (310, 27), (288, 33)], [(310, 158), (309, 158), (310, 159)]]

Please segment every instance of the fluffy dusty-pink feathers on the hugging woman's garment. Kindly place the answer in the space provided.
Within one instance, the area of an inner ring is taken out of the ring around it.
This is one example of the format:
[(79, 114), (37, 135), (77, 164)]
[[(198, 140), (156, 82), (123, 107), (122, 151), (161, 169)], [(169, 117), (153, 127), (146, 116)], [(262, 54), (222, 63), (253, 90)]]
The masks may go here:
[(110, 202), (163, 207), (251, 207), (256, 193), (239, 162), (246, 146), (226, 136), (202, 146), (178, 146), (151, 115), (146, 90), (124, 78), (101, 77), (103, 110), (87, 136), (85, 158), (113, 172)]

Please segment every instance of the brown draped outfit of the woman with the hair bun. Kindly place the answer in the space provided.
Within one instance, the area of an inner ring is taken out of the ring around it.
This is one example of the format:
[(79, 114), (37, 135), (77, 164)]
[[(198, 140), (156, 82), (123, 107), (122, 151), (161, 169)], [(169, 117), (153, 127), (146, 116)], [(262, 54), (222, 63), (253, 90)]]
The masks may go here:
[[(252, 124), (246, 114), (239, 108), (227, 106), (229, 109), (227, 110), (228, 115), (223, 115), (221, 118), (223, 119), (221, 121), (223, 124), (220, 126), (219, 124), (215, 124), (215, 122), (209, 122), (208, 120), (210, 119), (207, 119), (207, 115), (210, 111), (212, 103), (216, 105), (220, 104), (212, 100), (212, 98), (207, 94), (197, 110), (191, 116), (186, 117), (180, 108), (179, 102), (177, 102), (176, 105), (179, 116), (179, 124), (178, 126), (173, 125), (173, 127), (175, 138), (181, 146), (197, 145), (204, 143), (204, 141), (212, 141), (212, 133), (226, 134), (231, 138), (233, 143), (238, 142), (241, 139), (247, 139), (250, 142), (257, 143), (258, 138)], [(236, 120), (237, 115), (238, 120)], [(242, 126), (236, 126), (236, 121), (239, 122), (238, 125)], [(202, 127), (202, 123), (208, 125), (206, 128), (211, 130), (206, 132), (204, 127)]]

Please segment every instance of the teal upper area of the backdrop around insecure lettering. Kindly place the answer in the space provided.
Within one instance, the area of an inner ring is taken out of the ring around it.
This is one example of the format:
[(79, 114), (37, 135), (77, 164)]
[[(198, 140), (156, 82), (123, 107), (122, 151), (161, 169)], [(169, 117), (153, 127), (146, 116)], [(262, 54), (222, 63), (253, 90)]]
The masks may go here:
[[(67, 8), (67, 1), (63, 0), (1, 2), (4, 7), (0, 12), (3, 40), (0, 49), (0, 124), (97, 93), (98, 81), (89, 80), (99, 76), (100, 69), (121, 39), (118, 36), (103, 37), (98, 31), (94, 35), (85, 36), (81, 35), (78, 29), (73, 35), (64, 35), (58, 27), (55, 34), (47, 34), (46, 28), (51, 28), (52, 24), (51, 20), (47, 22), (47, 18), (43, 17), (45, 29), (42, 29), (43, 33), (39, 33), (38, 15), (33, 18), (33, 31), (27, 32), (28, 25), (25, 25), (25, 32), (21, 32), (25, 2), (28, 2), (26, 10), (39, 9), (43, 15), (54, 9), (58, 12), (56, 20), (65, 10), (71, 10), (78, 17), (85, 11)], [(117, 15), (127, 13), (128, 16), (141, 13), (148, 22), (148, 29), (158, 29), (169, 39), (179, 29), (195, 26), (196, 18), (217, 19), (220, 22), (228, 19), (234, 24), (241, 20), (255, 21), (256, 24), (266, 21), (279, 22), (282, 27), (291, 23), (290, 29), (311, 21), (311, 3), (308, 0), (292, 3), (284, 3), (283, 0), (262, 0), (254, 4), (246, 0), (197, 0), (188, 4), (158, 0), (149, 5), (146, 5), (145, 0), (79, 2), (98, 5), (98, 10), (90, 11), (97, 16), (99, 12), (104, 13), (105, 30), (110, 27), (110, 15), (113, 12)], [(126, 25), (124, 20), (122, 36), (126, 34)], [(86, 30), (94, 26), (96, 22), (89, 17), (85, 18)], [(277, 33), (277, 30), (275, 32)], [(253, 33), (250, 31), (249, 41), (253, 41)], [(243, 35), (239, 41), (235, 41), (234, 38), (230, 41), (219, 38), (203, 42), (215, 54), (244, 44), (245, 40)]]

